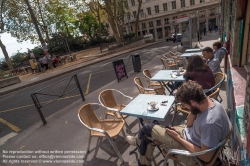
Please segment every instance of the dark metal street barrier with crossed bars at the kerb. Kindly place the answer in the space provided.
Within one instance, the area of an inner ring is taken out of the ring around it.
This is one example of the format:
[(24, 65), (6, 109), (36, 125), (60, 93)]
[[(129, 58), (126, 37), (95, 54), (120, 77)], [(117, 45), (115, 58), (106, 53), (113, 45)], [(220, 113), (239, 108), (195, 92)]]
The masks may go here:
[[(52, 87), (52, 86), (56, 86), (57, 84), (59, 84), (59, 83), (61, 83), (61, 82), (63, 82), (63, 81), (66, 81), (67, 79), (69, 79), (69, 82), (68, 82), (66, 88), (62, 91), (62, 93), (61, 93), (60, 95), (49, 94), (49, 93), (43, 93), (43, 92), (42, 92), (42, 91), (44, 91), (45, 89), (48, 89), (48, 88), (50, 88), (50, 87)], [(76, 87), (73, 88), (73, 89), (70, 89), (70, 90), (68, 90), (68, 91), (66, 92), (67, 88), (69, 87), (69, 85), (70, 85), (70, 83), (71, 83), (72, 81), (75, 82)], [(79, 81), (78, 81), (78, 77), (77, 77), (77, 75), (75, 74), (75, 75), (73, 75), (73, 76), (66, 77), (66, 78), (64, 78), (64, 79), (62, 79), (62, 80), (60, 80), (60, 81), (58, 81), (58, 82), (56, 82), (56, 83), (54, 83), (54, 84), (51, 84), (51, 85), (49, 85), (49, 86), (46, 86), (45, 88), (39, 89), (38, 91), (36, 91), (36, 92), (34, 92), (34, 93), (31, 94), (31, 98), (32, 98), (32, 100), (33, 100), (33, 102), (34, 102), (34, 104), (35, 104), (35, 106), (36, 106), (36, 109), (37, 109), (37, 111), (38, 111), (38, 114), (39, 114), (39, 116), (41, 117), (41, 120), (42, 120), (42, 122), (43, 122), (44, 125), (47, 123), (47, 121), (45, 120), (45, 117), (44, 117), (44, 115), (43, 115), (43, 113), (42, 113), (42, 111), (41, 111), (41, 108), (47, 106), (48, 104), (50, 104), (50, 103), (52, 103), (52, 102), (58, 100), (59, 98), (65, 96), (65, 95), (67, 95), (67, 94), (69, 94), (70, 92), (72, 92), (72, 91), (74, 91), (74, 90), (76, 90), (76, 89), (79, 89), (79, 92), (80, 92), (80, 95), (81, 95), (81, 97), (82, 97), (82, 100), (85, 101), (85, 98), (84, 98), (84, 95), (83, 95), (83, 92), (82, 92), (80, 83), (79, 83)], [(45, 104), (41, 104), (42, 102), (40, 102), (39, 99), (38, 99), (38, 96), (39, 96), (39, 95), (41, 95), (41, 96), (42, 96), (42, 95), (43, 95), (43, 96), (53, 96), (53, 97), (55, 97), (55, 98), (52, 99), (52, 100), (50, 100), (50, 101), (48, 101), (48, 102), (45, 102)]]

